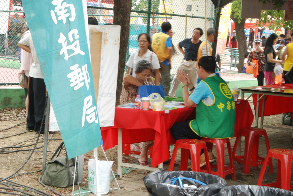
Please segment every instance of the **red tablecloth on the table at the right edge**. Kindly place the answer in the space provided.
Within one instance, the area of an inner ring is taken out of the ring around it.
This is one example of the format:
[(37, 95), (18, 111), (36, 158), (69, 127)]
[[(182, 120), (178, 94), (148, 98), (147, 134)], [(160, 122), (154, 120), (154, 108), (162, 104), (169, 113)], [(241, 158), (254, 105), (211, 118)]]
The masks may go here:
[[(280, 85), (273, 84), (273, 85), (268, 85), (264, 87), (280, 88)], [(285, 88), (293, 89), (293, 84), (285, 84)], [(256, 114), (257, 94), (253, 94), (252, 98), (253, 98), (254, 112)], [(273, 96), (273, 95), (269, 95), (269, 96), (266, 95), (265, 98), (266, 100), (265, 100), (264, 116), (293, 112), (293, 98)], [(263, 104), (263, 99), (261, 99), (259, 102), (258, 117), (261, 117), (261, 110), (263, 108), (262, 104)]]

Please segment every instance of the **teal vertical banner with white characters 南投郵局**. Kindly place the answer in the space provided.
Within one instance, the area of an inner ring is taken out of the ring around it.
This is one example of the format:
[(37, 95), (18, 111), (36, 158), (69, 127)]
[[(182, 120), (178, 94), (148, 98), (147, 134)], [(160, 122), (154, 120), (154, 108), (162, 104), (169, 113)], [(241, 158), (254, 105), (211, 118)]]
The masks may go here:
[(22, 3), (68, 156), (84, 154), (101, 143), (87, 42), (86, 2)]

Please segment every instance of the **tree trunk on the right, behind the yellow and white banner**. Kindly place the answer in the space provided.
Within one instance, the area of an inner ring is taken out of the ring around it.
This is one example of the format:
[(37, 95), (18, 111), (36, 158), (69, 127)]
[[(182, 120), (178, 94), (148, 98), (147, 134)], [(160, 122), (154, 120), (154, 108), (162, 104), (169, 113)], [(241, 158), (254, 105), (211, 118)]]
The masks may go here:
[(237, 69), (238, 69), (238, 73), (242, 73), (244, 59), (245, 59), (244, 54), (245, 52), (247, 52), (246, 37), (244, 32), (244, 25), (245, 25), (246, 18), (242, 18), (239, 23), (238, 18), (234, 18), (232, 13), (230, 17), (235, 23), (235, 31), (236, 31), (236, 37), (238, 42), (239, 64), (237, 65)]

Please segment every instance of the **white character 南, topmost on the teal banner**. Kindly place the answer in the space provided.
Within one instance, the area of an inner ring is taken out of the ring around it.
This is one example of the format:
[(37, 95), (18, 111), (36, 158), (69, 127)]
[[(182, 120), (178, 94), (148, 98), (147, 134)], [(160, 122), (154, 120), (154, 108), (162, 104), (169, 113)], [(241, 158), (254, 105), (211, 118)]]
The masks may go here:
[[(73, 4), (67, 4), (66, 2), (63, 2), (64, 0), (53, 0), (51, 3), (56, 6), (54, 10), (51, 10), (51, 17), (54, 21), (54, 23), (57, 25), (58, 21), (63, 21), (63, 24), (66, 23), (66, 18), (71, 15), (69, 18), (70, 21), (74, 21), (75, 19), (75, 8)], [(71, 14), (68, 12), (68, 9), (70, 8)], [(58, 18), (56, 18), (57, 14)]]

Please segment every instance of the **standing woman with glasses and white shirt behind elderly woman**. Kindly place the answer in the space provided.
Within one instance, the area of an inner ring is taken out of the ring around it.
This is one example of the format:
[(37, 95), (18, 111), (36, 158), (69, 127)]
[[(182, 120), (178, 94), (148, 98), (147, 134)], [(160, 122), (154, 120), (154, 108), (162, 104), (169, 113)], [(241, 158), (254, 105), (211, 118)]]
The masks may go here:
[(136, 64), (141, 60), (146, 60), (147, 62), (151, 62), (154, 68), (154, 78), (155, 84), (160, 85), (161, 81), (161, 74), (160, 74), (160, 63), (157, 55), (150, 50), (150, 36), (147, 33), (141, 33), (138, 36), (138, 45), (139, 50), (132, 52), (130, 55), (126, 65), (128, 66), (128, 69), (126, 71), (126, 74), (130, 74), (134, 77), (136, 77), (135, 74), (135, 66)]

